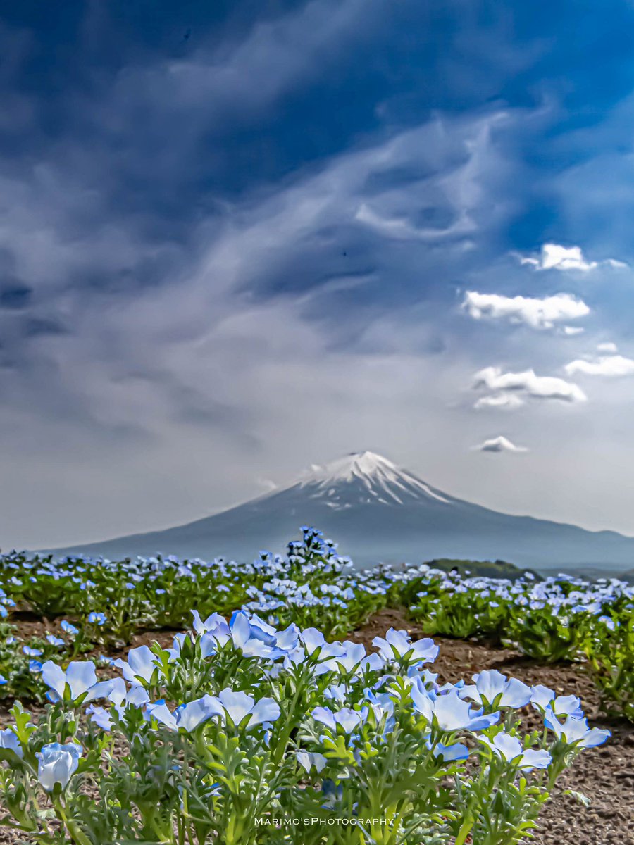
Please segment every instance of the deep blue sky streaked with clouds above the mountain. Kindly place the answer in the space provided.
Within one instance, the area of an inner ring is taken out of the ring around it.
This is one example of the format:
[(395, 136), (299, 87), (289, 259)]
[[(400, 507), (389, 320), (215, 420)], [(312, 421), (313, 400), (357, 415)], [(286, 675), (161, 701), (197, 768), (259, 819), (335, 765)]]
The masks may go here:
[(363, 449), (634, 533), (632, 3), (5, 3), (0, 50), (3, 548)]

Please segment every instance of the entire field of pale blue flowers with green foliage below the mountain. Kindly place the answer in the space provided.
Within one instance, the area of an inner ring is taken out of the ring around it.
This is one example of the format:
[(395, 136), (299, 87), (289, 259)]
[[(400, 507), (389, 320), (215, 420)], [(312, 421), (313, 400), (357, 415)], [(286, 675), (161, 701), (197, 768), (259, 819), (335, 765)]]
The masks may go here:
[[(438, 641), (574, 668), (615, 733), (634, 722), (615, 580), (358, 571), (306, 528), (250, 564), (12, 553), (0, 590), (5, 842), (529, 841), (610, 730), (538, 676), (441, 677)], [(403, 624), (359, 642), (387, 608)]]

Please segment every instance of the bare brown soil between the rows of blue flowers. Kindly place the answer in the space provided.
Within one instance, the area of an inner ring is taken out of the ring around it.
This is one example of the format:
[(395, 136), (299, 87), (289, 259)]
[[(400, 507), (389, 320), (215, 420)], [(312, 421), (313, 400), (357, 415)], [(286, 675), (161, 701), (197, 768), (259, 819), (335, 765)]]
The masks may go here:
[[(373, 638), (385, 635), (390, 627), (406, 629), (414, 640), (425, 636), (424, 629), (407, 619), (404, 610), (386, 608), (353, 631), (348, 639), (363, 642), (372, 649)], [(43, 626), (25, 620), (19, 628), (22, 636), (28, 636), (41, 634)], [(54, 630), (55, 626), (46, 628)], [(150, 645), (153, 641), (171, 646), (173, 636), (174, 631), (149, 631), (135, 635), (132, 646)], [(433, 671), (440, 674), (441, 681), (468, 680), (473, 673), (496, 668), (526, 684), (545, 684), (560, 694), (579, 695), (588, 721), (612, 731), (607, 744), (582, 752), (574, 766), (560, 778), (552, 799), (540, 815), (534, 838), (526, 841), (535, 845), (634, 845), (634, 725), (601, 717), (597, 690), (582, 667), (574, 663), (549, 666), (481, 641), (438, 636), (434, 639), (440, 646), (440, 654)], [(111, 652), (112, 657), (121, 657), (125, 651)], [(1, 727), (7, 722), (8, 706), (10, 702), (0, 701)], [(31, 706), (30, 710), (36, 714), (41, 707)], [(534, 727), (537, 722), (533, 712), (527, 710), (525, 715), (527, 727)], [(588, 808), (582, 806), (565, 794), (566, 789), (587, 795), (591, 804)], [(30, 845), (24, 834), (0, 829), (0, 845), (18, 843)]]

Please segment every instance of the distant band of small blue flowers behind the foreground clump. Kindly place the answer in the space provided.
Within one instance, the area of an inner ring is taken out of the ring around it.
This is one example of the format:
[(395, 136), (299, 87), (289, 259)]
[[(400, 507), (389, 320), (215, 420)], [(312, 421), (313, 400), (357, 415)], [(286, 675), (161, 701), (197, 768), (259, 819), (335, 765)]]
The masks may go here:
[[(0, 556), (0, 696), (41, 698), (47, 659), (119, 649), (142, 630), (182, 629), (194, 605), (203, 615), (244, 608), (276, 626), (316, 625), (333, 636), (402, 605), (432, 635), (486, 636), (547, 662), (583, 660), (604, 709), (634, 721), (631, 586), (463, 578), (425, 564), (359, 571), (309, 528), (285, 557), (261, 553), (249, 564)], [(15, 624), (25, 611), (42, 620), (29, 636)]]

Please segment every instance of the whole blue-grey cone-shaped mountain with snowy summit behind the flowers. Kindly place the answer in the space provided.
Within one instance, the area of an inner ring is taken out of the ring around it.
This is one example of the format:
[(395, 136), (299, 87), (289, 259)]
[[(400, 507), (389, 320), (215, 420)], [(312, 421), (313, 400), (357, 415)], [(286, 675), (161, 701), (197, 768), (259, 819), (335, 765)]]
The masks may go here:
[(514, 516), (455, 499), (372, 452), (312, 466), (285, 488), (187, 525), (55, 554), (120, 558), (158, 552), (249, 560), (281, 552), (298, 527), (320, 528), (356, 564), (434, 558), (505, 559), (521, 566), (627, 569), (634, 537)]

